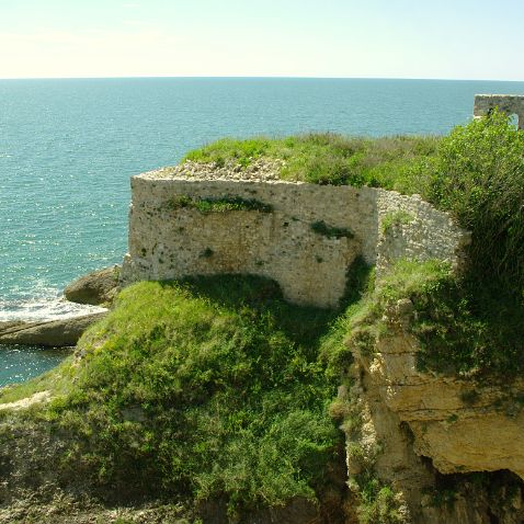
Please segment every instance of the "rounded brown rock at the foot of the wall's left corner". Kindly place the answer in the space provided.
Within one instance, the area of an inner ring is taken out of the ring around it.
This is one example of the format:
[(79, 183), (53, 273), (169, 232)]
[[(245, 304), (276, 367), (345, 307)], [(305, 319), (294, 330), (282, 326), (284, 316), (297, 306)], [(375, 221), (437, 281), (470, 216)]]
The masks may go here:
[(64, 295), (72, 303), (99, 306), (110, 303), (118, 292), (119, 266), (93, 271), (71, 282)]

